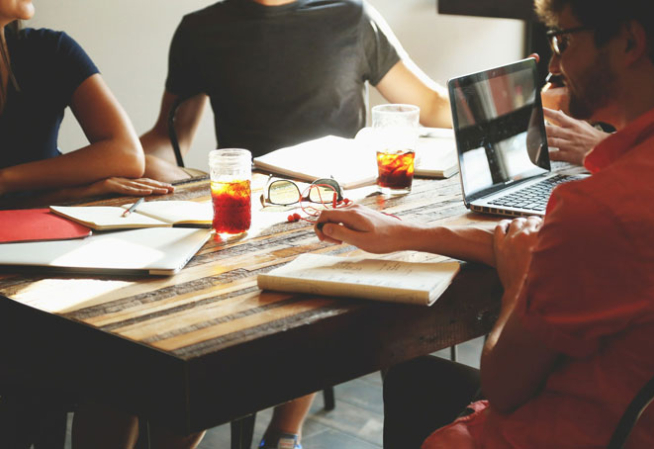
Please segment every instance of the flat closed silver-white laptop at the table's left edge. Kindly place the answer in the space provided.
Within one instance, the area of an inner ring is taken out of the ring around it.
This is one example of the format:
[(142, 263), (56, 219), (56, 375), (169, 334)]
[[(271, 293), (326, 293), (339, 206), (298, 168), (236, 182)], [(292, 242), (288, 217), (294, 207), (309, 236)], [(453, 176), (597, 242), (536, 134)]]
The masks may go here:
[(210, 229), (148, 228), (85, 239), (0, 244), (0, 266), (94, 274), (173, 275), (211, 235)]

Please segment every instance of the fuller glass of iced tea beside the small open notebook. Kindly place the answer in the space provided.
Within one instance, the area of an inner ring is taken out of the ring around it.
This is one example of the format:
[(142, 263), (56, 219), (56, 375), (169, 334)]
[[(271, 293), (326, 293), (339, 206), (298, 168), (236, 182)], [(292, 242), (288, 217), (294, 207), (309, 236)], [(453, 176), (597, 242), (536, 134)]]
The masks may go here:
[(214, 230), (220, 236), (246, 232), (252, 222), (252, 154), (240, 148), (212, 150), (209, 169)]

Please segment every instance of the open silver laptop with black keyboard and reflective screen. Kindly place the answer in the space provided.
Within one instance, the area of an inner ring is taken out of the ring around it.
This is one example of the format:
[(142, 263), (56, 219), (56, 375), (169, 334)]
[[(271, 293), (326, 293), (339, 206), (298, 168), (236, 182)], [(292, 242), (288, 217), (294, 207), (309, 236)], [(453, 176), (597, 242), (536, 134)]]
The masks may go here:
[(482, 213), (545, 215), (553, 173), (532, 58), (448, 81), (463, 201)]

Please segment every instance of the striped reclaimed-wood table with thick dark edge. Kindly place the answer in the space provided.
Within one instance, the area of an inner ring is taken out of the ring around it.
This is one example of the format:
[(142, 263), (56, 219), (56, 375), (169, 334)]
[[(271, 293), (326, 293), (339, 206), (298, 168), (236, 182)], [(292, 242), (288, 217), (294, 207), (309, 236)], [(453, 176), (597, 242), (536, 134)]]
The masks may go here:
[[(208, 195), (200, 180), (171, 198)], [(362, 202), (428, 223), (492, 222), (466, 213), (456, 177)], [(210, 241), (172, 277), (0, 274), (0, 385), (57, 388), (189, 433), (478, 337), (499, 309), (495, 271), (473, 264), (430, 308), (262, 292), (256, 275), (299, 254), (362, 252), (319, 242), (306, 222), (252, 234)]]

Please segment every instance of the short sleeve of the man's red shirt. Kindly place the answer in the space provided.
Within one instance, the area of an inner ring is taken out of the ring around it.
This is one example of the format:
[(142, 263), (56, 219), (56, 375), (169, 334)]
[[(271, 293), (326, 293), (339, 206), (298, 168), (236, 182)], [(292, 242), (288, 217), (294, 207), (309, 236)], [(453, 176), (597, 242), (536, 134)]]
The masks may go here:
[(620, 220), (575, 190), (554, 192), (516, 311), (546, 346), (584, 357), (605, 337), (651, 319), (652, 292)]

